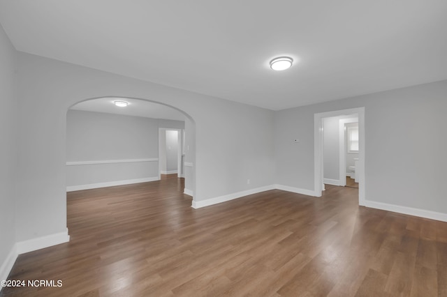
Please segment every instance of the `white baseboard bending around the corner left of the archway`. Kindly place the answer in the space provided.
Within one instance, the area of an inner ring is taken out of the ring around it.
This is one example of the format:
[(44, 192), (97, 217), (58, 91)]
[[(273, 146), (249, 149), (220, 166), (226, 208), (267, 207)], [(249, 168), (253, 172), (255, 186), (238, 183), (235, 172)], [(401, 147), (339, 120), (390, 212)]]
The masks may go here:
[(40, 250), (41, 248), (48, 248), (52, 245), (59, 245), (60, 243), (66, 243), (68, 241), (70, 241), (70, 236), (68, 235), (68, 229), (66, 229), (66, 231), (56, 234), (50, 234), (47, 236), (29, 239), (28, 241), (19, 241), (18, 243), (15, 243), (13, 248), (11, 248), (8, 257), (6, 257), (5, 261), (3, 261), (3, 264), (0, 266), (0, 281), (8, 278), (8, 275), (11, 269), (13, 269), (15, 260), (19, 254)]

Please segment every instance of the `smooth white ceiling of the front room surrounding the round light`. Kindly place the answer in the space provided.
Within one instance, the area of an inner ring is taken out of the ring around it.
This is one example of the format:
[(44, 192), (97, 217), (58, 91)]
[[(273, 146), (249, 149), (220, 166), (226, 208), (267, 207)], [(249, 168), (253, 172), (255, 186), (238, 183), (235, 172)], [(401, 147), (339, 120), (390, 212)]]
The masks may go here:
[[(268, 109), (447, 79), (446, 0), (0, 0), (15, 48)], [(275, 72), (275, 56), (295, 59)]]

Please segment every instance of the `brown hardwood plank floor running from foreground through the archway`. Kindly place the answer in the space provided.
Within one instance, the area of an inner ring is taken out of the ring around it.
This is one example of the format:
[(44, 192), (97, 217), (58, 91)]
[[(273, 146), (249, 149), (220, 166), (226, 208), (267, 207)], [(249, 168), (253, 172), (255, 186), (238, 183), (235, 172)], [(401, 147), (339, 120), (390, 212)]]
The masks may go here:
[(1, 296), (447, 296), (447, 223), (271, 190), (191, 208), (182, 179), (69, 192), (71, 241), (18, 257)]

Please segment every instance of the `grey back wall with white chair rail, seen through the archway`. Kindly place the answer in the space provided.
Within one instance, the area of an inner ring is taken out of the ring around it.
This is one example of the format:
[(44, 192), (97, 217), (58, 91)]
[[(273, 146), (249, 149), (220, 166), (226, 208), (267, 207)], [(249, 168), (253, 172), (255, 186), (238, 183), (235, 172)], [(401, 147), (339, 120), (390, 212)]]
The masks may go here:
[[(184, 122), (69, 110), (66, 126), (67, 188), (158, 179), (160, 125), (183, 128)], [(114, 162), (82, 164), (85, 161)], [(81, 164), (73, 165), (73, 162)]]

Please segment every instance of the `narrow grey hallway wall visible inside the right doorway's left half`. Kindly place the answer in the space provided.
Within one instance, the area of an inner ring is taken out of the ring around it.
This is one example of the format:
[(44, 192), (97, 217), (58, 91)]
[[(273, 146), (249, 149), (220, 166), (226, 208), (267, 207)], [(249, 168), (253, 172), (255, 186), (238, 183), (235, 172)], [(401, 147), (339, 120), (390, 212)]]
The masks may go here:
[(323, 119), (323, 178), (339, 180), (339, 118)]

